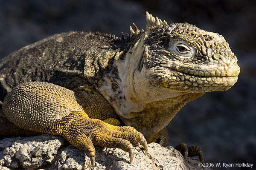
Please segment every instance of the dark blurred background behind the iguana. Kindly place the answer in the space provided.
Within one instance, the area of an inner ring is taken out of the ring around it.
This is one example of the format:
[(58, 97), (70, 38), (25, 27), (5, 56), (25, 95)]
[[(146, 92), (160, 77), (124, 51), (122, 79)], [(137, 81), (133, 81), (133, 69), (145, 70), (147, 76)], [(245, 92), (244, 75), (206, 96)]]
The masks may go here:
[(168, 125), (169, 145), (197, 145), (205, 162), (244, 162), (256, 170), (255, 0), (0, 0), (0, 58), (61, 32), (120, 37), (132, 23), (145, 28), (145, 11), (168, 23), (188, 22), (218, 32), (241, 67), (233, 88), (207, 93), (175, 116)]

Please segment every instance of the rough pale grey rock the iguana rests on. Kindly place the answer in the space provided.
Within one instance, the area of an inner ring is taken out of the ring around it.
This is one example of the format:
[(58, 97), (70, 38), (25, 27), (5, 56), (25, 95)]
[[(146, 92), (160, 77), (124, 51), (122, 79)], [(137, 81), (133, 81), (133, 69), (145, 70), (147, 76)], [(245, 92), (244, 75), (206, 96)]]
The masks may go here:
[[(137, 146), (129, 164), (128, 153), (121, 149), (96, 147), (95, 170), (196, 170), (196, 158), (183, 156), (173, 147), (149, 144), (148, 154)], [(85, 158), (85, 159), (84, 159)], [(60, 136), (41, 134), (0, 140), (0, 170), (91, 170), (90, 159)], [(203, 168), (201, 168), (202, 170)], [(210, 170), (205, 167), (204, 170)]]

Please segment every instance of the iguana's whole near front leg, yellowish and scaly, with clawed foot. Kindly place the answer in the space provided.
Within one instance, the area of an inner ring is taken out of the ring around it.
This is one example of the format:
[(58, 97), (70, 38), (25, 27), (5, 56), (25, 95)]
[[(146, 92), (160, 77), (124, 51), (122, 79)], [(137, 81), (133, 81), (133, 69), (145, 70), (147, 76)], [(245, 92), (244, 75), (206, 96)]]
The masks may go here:
[(133, 127), (114, 126), (89, 118), (77, 102), (78, 96), (58, 85), (28, 82), (9, 92), (3, 111), (7, 119), (25, 130), (63, 136), (90, 157), (92, 166), (95, 164), (93, 144), (128, 151), (130, 163), (134, 157), (131, 142), (141, 143), (147, 153), (142, 133)]

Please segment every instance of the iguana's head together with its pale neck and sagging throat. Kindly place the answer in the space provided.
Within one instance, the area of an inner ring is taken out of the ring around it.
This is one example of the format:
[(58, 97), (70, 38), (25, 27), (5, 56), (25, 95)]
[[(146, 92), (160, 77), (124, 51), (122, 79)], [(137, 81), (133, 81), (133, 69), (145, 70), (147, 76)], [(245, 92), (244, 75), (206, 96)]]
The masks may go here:
[[(125, 58), (116, 59), (121, 83), (113, 103), (126, 125), (150, 136), (187, 103), (209, 91), (226, 91), (239, 75), (235, 54), (221, 35), (146, 13), (135, 26)], [(130, 37), (129, 37), (130, 38)]]

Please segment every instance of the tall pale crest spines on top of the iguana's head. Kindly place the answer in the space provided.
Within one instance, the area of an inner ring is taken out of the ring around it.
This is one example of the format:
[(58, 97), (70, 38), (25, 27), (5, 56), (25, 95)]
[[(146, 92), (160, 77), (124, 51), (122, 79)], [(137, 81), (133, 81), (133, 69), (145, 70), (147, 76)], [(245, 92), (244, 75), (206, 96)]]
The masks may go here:
[(159, 28), (160, 26), (163, 26), (163, 25), (168, 25), (166, 20), (162, 21), (158, 17), (155, 18), (152, 16), (152, 14), (149, 14), (148, 11), (146, 11), (146, 20), (147, 20), (146, 31)]

